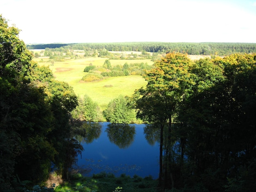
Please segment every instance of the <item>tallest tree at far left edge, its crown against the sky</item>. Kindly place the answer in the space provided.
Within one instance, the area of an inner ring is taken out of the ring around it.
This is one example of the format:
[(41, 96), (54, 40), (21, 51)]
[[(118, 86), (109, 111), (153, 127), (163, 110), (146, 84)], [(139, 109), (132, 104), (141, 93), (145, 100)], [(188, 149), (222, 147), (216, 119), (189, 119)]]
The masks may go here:
[(16, 158), (22, 149), (21, 137), (16, 130), (25, 122), (16, 114), (26, 111), (19, 105), (19, 96), (29, 89), (27, 85), (31, 77), (32, 54), (19, 40), (18, 33), (19, 30), (9, 27), (0, 15), (0, 190), (10, 187)]

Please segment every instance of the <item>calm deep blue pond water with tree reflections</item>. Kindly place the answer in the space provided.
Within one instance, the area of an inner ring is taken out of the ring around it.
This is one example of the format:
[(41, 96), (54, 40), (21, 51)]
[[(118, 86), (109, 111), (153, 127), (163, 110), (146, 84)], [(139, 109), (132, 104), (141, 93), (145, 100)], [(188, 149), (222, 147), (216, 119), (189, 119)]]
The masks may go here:
[(157, 179), (159, 142), (149, 129), (145, 129), (144, 134), (145, 127), (137, 124), (120, 127), (106, 122), (88, 125), (88, 136), (81, 139), (84, 151), (77, 162), (82, 174), (92, 176), (106, 172), (120, 176), (125, 173), (131, 177), (151, 175)]

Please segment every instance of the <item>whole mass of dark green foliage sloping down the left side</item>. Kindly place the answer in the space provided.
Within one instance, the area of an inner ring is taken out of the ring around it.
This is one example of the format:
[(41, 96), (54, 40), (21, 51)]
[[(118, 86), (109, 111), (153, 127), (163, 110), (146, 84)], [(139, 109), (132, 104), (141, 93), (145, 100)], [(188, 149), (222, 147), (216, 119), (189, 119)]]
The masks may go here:
[(70, 125), (77, 105), (73, 89), (31, 62), (18, 32), (0, 16), (1, 191), (18, 190), (16, 184), (26, 180), (42, 183), (52, 163), (65, 177), (82, 150)]

